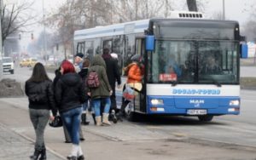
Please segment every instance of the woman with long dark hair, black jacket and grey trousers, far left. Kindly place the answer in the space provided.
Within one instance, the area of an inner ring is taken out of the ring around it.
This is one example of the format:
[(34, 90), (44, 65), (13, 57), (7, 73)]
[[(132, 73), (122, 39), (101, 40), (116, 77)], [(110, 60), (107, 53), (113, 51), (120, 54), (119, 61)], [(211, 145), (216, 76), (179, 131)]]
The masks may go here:
[(46, 160), (46, 149), (44, 144), (44, 129), (54, 117), (49, 116), (49, 110), (56, 115), (55, 100), (52, 89), (52, 82), (47, 76), (44, 66), (37, 63), (30, 77), (25, 84), (25, 93), (29, 101), (29, 116), (36, 133), (34, 154), (30, 157), (33, 160)]

